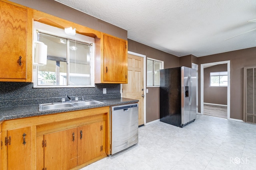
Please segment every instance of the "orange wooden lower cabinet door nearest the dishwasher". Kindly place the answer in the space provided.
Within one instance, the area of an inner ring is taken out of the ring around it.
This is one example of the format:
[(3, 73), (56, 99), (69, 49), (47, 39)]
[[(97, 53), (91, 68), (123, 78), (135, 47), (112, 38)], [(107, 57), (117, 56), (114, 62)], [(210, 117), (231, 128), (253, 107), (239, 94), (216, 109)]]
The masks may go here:
[[(102, 154), (102, 135), (105, 121), (78, 127), (78, 165), (97, 158)], [(104, 147), (105, 148), (105, 147)]]

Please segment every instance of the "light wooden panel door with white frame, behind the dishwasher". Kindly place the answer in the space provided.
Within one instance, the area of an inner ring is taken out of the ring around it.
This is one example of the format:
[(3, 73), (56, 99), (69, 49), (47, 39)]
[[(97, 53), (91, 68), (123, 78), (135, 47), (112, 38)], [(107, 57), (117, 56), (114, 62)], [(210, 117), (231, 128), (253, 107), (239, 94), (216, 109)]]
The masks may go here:
[(138, 125), (146, 123), (146, 56), (128, 51), (128, 84), (121, 84), (121, 96), (139, 100)]

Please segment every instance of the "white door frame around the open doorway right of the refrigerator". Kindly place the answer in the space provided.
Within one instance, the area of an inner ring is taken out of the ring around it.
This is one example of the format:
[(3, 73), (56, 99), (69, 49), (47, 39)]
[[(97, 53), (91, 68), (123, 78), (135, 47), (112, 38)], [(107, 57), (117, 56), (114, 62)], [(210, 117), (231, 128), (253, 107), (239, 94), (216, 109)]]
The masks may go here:
[(227, 64), (227, 72), (228, 72), (228, 86), (227, 86), (227, 119), (230, 119), (230, 61), (220, 61), (215, 63), (206, 63), (201, 64), (201, 114), (204, 114), (204, 68), (209, 66), (214, 66), (218, 64)]

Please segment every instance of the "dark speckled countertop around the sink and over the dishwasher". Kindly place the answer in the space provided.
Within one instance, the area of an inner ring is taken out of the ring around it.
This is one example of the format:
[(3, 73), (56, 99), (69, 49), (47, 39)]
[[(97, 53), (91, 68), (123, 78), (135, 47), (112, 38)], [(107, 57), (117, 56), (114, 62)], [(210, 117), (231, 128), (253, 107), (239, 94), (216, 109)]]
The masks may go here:
[(38, 104), (26, 105), (26, 106), (15, 106), (15, 107), (0, 107), (0, 121), (138, 102), (138, 100), (128, 99), (128, 98), (108, 98), (108, 99), (98, 99), (97, 101), (103, 102), (104, 104), (71, 107), (71, 108), (55, 109), (55, 110), (45, 110), (45, 111), (38, 111)]

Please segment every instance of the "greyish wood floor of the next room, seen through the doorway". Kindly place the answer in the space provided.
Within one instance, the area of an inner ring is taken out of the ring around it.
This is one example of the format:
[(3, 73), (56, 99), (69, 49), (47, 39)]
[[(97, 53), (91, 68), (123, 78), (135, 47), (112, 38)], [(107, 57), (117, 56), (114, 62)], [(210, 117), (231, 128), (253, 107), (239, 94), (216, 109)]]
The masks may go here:
[(227, 106), (204, 104), (204, 114), (216, 117), (227, 118)]

